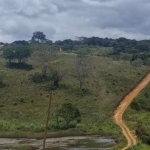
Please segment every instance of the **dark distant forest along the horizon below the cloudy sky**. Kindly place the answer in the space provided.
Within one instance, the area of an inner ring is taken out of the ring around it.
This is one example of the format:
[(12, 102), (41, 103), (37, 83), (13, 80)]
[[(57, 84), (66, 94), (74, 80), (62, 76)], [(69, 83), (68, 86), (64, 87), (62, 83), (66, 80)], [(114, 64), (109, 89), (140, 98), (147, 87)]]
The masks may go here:
[[(35, 32), (35, 35), (37, 32)], [(44, 35), (41, 32), (41, 35)], [(89, 47), (106, 47), (111, 48), (112, 51), (107, 53), (105, 57), (113, 57), (116, 60), (124, 59), (137, 64), (150, 65), (150, 40), (126, 39), (124, 37), (118, 39), (99, 38), (99, 37), (77, 37), (76, 40), (66, 39), (51, 41), (42, 37), (43, 40), (36, 40), (33, 35), (30, 41), (14, 41), (11, 45), (28, 45), (33, 43), (45, 43), (48, 45), (55, 45), (60, 47), (63, 51), (76, 51), (78, 49)], [(0, 44), (7, 45), (0, 42)]]

